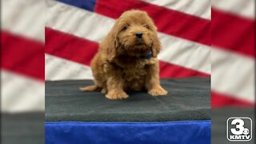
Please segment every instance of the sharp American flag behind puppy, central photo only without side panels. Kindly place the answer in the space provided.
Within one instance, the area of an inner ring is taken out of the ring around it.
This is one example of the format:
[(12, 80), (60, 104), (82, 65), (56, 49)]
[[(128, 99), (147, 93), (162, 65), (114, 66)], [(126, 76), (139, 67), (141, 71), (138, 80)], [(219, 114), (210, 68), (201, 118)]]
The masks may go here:
[[(184, 8), (170, 9), (168, 3), (158, 6), (143, 1), (81, 2), (46, 2), (47, 80), (92, 78), (89, 66), (98, 43), (114, 26), (115, 19), (130, 9), (146, 10), (158, 26), (163, 46), (159, 54), (162, 78), (210, 76), (210, 1), (200, 2), (203, 10), (191, 8), (195, 15), (206, 10), (208, 14), (203, 18), (186, 14)], [(194, 24), (186, 26), (188, 22)]]

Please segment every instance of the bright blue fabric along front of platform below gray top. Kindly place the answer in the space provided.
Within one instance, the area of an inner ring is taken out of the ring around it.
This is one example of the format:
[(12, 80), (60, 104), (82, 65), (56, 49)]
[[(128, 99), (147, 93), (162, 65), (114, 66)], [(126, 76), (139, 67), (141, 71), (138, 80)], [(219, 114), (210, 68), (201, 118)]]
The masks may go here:
[(46, 122), (49, 143), (210, 144), (210, 120), (178, 122)]

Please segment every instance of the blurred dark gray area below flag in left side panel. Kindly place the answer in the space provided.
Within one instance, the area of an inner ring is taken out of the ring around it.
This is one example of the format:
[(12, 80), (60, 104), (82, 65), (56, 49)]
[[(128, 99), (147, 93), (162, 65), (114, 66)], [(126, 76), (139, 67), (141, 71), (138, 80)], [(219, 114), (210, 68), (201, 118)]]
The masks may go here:
[(2, 144), (45, 143), (44, 113), (1, 115)]

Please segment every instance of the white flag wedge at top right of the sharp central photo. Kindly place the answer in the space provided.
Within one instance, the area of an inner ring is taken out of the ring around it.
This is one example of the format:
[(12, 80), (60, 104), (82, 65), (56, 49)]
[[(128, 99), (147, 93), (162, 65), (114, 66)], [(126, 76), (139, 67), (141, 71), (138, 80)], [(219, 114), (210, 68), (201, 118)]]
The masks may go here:
[(193, 0), (193, 1), (181, 1), (181, 0), (142, 0), (149, 2), (157, 6), (162, 6), (167, 9), (177, 10), (182, 13), (194, 15), (200, 18), (210, 19), (210, 0)]

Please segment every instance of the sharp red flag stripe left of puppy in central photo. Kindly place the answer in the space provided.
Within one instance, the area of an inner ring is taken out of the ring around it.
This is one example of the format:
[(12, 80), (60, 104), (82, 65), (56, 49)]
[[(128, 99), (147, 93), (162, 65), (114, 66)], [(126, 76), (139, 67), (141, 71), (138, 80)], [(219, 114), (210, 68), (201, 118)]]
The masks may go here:
[(98, 42), (46, 28), (46, 53), (90, 65), (98, 51)]

